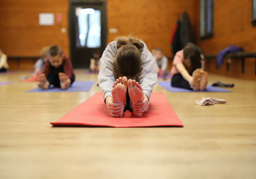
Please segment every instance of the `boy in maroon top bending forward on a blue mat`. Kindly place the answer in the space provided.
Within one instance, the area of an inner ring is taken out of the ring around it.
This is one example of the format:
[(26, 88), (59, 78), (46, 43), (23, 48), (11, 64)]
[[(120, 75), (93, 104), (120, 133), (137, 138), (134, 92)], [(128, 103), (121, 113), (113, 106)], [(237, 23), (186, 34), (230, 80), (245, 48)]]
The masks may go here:
[(68, 57), (60, 47), (51, 46), (48, 52), (49, 60), (43, 66), (42, 74), (37, 77), (39, 88), (48, 89), (51, 84), (66, 89), (75, 81), (75, 73)]

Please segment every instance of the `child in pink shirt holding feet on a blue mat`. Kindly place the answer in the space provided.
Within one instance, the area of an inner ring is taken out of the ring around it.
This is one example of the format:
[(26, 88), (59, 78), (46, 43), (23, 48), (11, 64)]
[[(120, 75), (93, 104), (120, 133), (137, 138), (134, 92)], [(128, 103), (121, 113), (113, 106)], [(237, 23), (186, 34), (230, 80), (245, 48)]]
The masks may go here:
[(202, 91), (208, 83), (208, 73), (203, 69), (204, 56), (202, 49), (193, 43), (188, 43), (174, 56), (171, 69), (171, 85), (173, 87)]

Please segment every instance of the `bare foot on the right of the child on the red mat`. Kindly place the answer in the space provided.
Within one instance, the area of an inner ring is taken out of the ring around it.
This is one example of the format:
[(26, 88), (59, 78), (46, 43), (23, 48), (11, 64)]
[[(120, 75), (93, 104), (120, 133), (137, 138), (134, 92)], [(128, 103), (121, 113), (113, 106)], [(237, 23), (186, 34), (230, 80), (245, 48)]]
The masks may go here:
[(128, 93), (130, 96), (131, 104), (132, 104), (133, 114), (135, 117), (140, 117), (142, 113), (139, 113), (134, 109), (137, 103), (143, 101), (142, 87), (139, 84), (139, 82), (136, 82), (135, 80), (131, 80), (131, 79), (128, 80), (127, 86), (128, 86)]

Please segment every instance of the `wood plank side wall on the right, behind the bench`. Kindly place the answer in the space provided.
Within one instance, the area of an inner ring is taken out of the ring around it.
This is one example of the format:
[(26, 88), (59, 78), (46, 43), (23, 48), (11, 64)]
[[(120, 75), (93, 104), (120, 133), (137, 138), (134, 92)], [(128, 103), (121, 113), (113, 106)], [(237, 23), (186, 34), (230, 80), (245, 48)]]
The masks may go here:
[[(196, 26), (200, 22), (200, 0), (196, 0)], [(252, 26), (252, 1), (251, 0), (215, 0), (214, 1), (214, 36), (201, 40), (197, 28), (197, 44), (202, 47), (204, 54), (217, 54), (220, 50), (237, 45), (245, 52), (256, 52), (256, 26)], [(210, 73), (236, 77), (241, 79), (256, 80), (255, 58), (245, 59), (245, 72), (241, 73), (241, 60), (231, 61), (230, 70), (226, 71), (226, 59), (220, 69), (216, 69), (215, 60), (210, 61)]]

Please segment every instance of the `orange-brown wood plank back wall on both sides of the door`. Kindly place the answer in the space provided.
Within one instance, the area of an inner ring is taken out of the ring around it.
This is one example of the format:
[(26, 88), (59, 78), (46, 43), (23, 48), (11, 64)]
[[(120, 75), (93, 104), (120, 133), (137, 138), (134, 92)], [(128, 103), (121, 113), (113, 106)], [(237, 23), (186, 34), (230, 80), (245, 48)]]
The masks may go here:
[[(8, 56), (39, 56), (44, 46), (56, 44), (69, 55), (68, 31), (61, 32), (61, 28), (68, 30), (68, 3), (69, 0), (1, 0), (0, 46)], [(107, 42), (132, 33), (149, 49), (160, 47), (170, 56), (169, 37), (176, 19), (184, 11), (192, 17), (195, 32), (194, 4), (194, 0), (107, 0), (108, 29), (118, 30), (115, 34), (108, 33)], [(63, 19), (60, 25), (40, 26), (39, 13), (54, 13), (55, 16), (61, 13)], [(11, 68), (16, 66), (10, 64)]]

